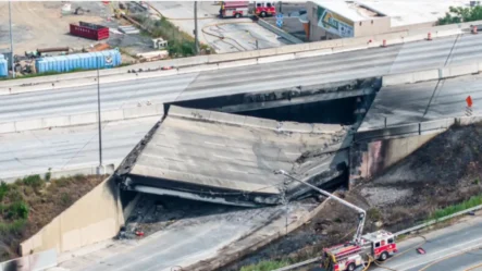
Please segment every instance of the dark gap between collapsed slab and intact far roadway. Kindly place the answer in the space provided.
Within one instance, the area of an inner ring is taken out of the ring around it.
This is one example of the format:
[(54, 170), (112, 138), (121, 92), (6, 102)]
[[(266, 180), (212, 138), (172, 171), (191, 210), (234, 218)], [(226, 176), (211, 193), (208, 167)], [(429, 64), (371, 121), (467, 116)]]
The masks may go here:
[(181, 95), (178, 101), (165, 103), (164, 111), (168, 113), (172, 104), (280, 122), (354, 125), (380, 88), (381, 79), (373, 77), (203, 99), (183, 100)]

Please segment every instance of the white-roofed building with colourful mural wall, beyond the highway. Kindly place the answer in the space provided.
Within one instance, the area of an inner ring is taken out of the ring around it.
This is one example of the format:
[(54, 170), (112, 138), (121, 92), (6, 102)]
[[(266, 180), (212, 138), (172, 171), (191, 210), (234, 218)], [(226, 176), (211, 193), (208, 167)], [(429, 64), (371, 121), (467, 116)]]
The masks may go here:
[(461, 0), (447, 1), (343, 1), (307, 3), (300, 17), (310, 41), (362, 37), (435, 25), (449, 7), (469, 7)]

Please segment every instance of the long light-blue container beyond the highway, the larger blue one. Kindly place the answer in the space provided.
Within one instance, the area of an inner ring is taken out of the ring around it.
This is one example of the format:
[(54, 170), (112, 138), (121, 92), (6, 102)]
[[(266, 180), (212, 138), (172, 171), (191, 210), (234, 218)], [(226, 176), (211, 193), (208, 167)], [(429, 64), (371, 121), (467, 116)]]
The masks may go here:
[(73, 70), (95, 70), (119, 66), (122, 63), (118, 50), (100, 52), (76, 53), (61, 57), (47, 57), (38, 59), (35, 63), (37, 73), (70, 72)]

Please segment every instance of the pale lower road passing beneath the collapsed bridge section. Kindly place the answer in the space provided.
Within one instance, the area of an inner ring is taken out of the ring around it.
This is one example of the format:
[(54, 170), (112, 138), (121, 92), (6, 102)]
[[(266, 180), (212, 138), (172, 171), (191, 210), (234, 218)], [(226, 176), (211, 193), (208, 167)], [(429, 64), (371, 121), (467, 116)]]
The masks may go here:
[[(220, 209), (215, 206), (210, 208)], [(314, 208), (313, 205), (289, 204), (288, 224)], [(63, 261), (59, 268), (63, 271), (172, 271), (175, 267), (185, 268), (212, 257), (225, 257), (221, 255), (222, 248), (240, 238), (258, 232), (274, 234), (285, 229), (284, 206), (230, 209), (221, 213), (181, 219), (144, 239), (116, 241), (107, 248)], [(280, 215), (281, 219), (276, 221), (281, 223), (271, 223)], [(258, 242), (252, 239), (244, 245), (252, 246)], [(59, 258), (76, 254), (65, 252)]]

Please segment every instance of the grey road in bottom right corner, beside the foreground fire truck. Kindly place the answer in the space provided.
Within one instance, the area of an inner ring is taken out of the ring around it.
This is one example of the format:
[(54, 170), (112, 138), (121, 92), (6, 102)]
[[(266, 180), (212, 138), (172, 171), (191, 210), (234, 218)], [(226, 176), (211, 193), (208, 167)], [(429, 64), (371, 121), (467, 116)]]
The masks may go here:
[[(370, 267), (370, 271), (465, 271), (482, 264), (482, 218), (466, 219), (465, 222), (413, 237), (398, 244), (399, 252), (382, 267)], [(420, 255), (415, 248), (422, 247)], [(320, 271), (316, 268), (311, 271)], [(473, 270), (482, 270), (482, 267)]]

